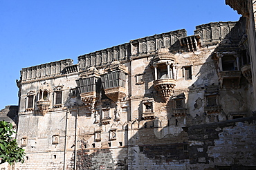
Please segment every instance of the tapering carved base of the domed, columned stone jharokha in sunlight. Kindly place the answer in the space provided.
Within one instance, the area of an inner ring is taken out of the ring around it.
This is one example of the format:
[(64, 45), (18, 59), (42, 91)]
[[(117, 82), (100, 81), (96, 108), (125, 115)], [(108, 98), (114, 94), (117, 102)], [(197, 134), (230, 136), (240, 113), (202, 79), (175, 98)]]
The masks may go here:
[(168, 102), (174, 93), (174, 86), (176, 86), (176, 79), (157, 79), (154, 81), (154, 88), (161, 93), (163, 100)]

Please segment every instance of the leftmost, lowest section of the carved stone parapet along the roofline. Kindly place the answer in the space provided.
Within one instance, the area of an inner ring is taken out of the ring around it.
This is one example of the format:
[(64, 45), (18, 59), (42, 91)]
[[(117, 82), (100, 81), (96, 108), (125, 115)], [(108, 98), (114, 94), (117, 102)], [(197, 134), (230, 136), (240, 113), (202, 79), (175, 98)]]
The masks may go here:
[(64, 59), (57, 62), (22, 68), (21, 81), (25, 82), (33, 79), (62, 75), (64, 68), (71, 65), (73, 65), (73, 59)]

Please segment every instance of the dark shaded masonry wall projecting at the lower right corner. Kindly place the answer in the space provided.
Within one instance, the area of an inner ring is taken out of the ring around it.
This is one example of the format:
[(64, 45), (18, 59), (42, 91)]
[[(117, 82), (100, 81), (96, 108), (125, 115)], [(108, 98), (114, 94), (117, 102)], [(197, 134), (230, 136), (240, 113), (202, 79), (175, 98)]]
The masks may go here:
[(188, 127), (190, 168), (255, 167), (256, 117)]

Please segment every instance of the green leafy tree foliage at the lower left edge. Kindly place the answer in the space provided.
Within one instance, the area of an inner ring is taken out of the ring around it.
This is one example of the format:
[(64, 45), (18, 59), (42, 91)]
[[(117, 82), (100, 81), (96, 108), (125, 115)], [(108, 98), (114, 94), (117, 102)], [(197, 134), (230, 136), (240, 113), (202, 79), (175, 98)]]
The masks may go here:
[(16, 133), (12, 130), (12, 124), (6, 121), (0, 121), (0, 164), (8, 162), (24, 162), (24, 149), (18, 147), (12, 134)]

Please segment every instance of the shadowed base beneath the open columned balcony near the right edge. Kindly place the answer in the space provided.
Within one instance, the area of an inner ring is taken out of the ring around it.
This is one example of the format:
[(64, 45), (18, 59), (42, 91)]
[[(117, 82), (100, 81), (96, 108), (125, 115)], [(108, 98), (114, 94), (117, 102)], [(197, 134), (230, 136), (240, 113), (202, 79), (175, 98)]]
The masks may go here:
[(240, 70), (220, 71), (218, 75), (219, 75), (219, 82), (220, 82), (221, 88), (223, 88), (224, 84), (227, 85), (226, 87), (239, 88), (240, 79), (241, 79)]

